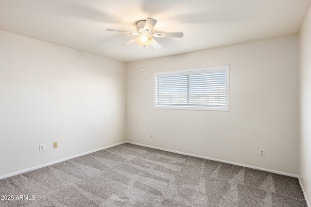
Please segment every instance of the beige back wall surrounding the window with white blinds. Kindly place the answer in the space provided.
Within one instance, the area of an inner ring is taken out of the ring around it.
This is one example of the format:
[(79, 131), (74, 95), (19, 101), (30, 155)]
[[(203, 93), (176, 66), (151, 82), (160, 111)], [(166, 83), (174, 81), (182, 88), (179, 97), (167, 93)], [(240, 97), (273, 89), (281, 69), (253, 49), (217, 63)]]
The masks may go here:
[[(153, 108), (154, 72), (223, 64), (229, 111)], [(298, 175), (297, 35), (150, 59), (145, 69), (126, 65), (128, 141)]]

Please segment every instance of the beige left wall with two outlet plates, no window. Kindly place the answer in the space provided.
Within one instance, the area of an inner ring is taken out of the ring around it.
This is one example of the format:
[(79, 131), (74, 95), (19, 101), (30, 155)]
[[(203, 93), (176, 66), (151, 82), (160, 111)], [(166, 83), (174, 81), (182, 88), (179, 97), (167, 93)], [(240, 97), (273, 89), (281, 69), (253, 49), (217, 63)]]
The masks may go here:
[(124, 82), (120, 61), (0, 31), (0, 177), (125, 141)]

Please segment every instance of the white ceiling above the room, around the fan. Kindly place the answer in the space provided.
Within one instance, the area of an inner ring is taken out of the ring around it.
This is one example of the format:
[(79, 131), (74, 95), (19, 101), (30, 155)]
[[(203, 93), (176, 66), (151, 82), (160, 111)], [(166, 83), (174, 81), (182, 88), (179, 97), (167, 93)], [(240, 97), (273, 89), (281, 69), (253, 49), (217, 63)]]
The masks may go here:
[(168, 56), (297, 34), (311, 0), (0, 0), (0, 30), (131, 62), (143, 48), (116, 29), (136, 32), (136, 22), (157, 20), (146, 58)]

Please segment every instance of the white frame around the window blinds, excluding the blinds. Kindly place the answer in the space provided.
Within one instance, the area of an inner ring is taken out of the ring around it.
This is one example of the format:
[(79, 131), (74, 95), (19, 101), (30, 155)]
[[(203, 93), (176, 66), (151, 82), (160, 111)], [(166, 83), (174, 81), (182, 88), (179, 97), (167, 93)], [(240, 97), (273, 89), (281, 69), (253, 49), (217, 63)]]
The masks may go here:
[[(169, 75), (185, 75), (193, 74), (200, 71), (204, 73), (212, 73), (225, 71), (225, 108), (218, 107), (201, 107), (201, 106), (170, 106), (170, 105), (156, 105), (156, 77)], [(154, 73), (154, 109), (179, 109), (179, 110), (204, 110), (204, 111), (229, 111), (229, 64), (209, 66), (201, 68), (192, 68), (185, 70), (174, 70)]]

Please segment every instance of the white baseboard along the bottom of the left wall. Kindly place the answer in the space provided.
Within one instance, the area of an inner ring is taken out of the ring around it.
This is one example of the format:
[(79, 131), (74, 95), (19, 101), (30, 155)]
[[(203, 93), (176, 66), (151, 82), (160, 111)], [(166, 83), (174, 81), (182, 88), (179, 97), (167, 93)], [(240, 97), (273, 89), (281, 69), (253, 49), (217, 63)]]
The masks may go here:
[(66, 161), (68, 159), (77, 158), (77, 157), (80, 157), (80, 156), (83, 156), (83, 155), (87, 155), (87, 154), (90, 154), (90, 153), (93, 153), (93, 152), (97, 152), (97, 151), (100, 151), (100, 150), (103, 150), (103, 149), (107, 149), (107, 148), (110, 148), (110, 147), (113, 147), (113, 146), (117, 146), (117, 145), (120, 145), (120, 144), (123, 144), (123, 143), (127, 143), (127, 142), (125, 141), (125, 142), (121, 142), (121, 143), (111, 144), (109, 146), (104, 146), (104, 147), (99, 148), (99, 149), (94, 149), (94, 150), (91, 150), (91, 151), (88, 151), (88, 152), (84, 152), (84, 153), (81, 153), (81, 154), (78, 154), (78, 155), (73, 155), (73, 156), (70, 156), (68, 158), (59, 159), (59, 160), (52, 161), (52, 162), (49, 162), (49, 163), (45, 163), (45, 164), (42, 164), (42, 165), (38, 165), (38, 166), (35, 166), (35, 167), (31, 167), (31, 168), (27, 168), (27, 169), (24, 169), (24, 170), (20, 170), (20, 171), (14, 172), (14, 173), (9, 173), (9, 174), (6, 174), (6, 175), (1, 175), (0, 179), (6, 178), (6, 177), (11, 177), (11, 176), (18, 175), (18, 174), (21, 174), (21, 173), (26, 173), (28, 171), (36, 170), (36, 169), (39, 169), (39, 168), (42, 168), (42, 167), (46, 167), (46, 166), (49, 166), (49, 165), (52, 165), (52, 164), (56, 164), (58, 162)]

